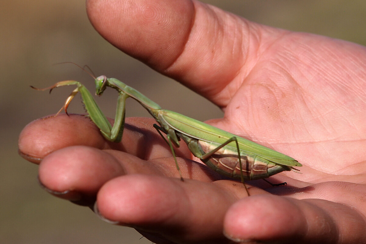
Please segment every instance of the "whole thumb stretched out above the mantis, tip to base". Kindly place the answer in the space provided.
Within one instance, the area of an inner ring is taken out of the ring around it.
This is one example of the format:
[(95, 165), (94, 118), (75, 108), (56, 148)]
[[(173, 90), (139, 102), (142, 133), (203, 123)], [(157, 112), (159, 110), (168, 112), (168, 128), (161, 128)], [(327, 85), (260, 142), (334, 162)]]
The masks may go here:
[[(283, 33), (271, 29), (265, 34), (270, 28), (190, 0), (89, 0), (87, 14), (117, 48), (216, 103), (214, 95), (239, 74), (244, 62), (253, 66), (251, 57), (256, 55), (247, 55), (258, 51), (256, 36), (270, 42)], [(249, 46), (250, 37), (256, 45)]]

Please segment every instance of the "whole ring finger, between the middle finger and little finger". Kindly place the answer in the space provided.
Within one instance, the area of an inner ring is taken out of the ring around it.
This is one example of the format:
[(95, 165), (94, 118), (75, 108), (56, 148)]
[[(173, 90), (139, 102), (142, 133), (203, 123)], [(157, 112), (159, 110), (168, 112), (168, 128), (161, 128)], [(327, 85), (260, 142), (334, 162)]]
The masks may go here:
[(135, 174), (105, 184), (98, 192), (97, 211), (109, 221), (173, 242), (225, 243), (223, 216), (235, 199), (215, 184)]

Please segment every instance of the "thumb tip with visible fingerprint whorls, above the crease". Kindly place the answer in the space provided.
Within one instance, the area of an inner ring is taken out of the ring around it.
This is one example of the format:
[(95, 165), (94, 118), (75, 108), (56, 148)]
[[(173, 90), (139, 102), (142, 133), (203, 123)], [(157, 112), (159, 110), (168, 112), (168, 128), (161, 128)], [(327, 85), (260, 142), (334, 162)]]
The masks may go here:
[(86, 8), (106, 40), (161, 70), (182, 52), (194, 18), (193, 3), (182, 0), (89, 0)]

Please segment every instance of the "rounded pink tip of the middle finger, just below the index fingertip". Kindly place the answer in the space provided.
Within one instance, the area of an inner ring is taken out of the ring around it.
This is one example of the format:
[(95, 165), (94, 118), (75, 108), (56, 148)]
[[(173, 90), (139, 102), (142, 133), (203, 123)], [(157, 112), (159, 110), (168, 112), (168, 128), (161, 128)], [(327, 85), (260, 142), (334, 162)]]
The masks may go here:
[(72, 146), (57, 150), (41, 162), (39, 180), (54, 192), (95, 195), (105, 182), (123, 173), (112, 155), (92, 147)]

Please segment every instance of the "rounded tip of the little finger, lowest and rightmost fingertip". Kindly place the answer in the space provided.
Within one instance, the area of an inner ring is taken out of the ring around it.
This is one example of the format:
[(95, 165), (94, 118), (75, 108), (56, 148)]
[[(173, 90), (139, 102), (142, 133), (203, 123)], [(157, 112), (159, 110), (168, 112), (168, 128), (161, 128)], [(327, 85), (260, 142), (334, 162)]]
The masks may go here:
[(231, 240), (292, 238), (300, 235), (304, 226), (305, 218), (295, 204), (287, 198), (267, 194), (236, 202), (224, 218), (224, 234)]

